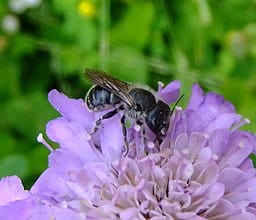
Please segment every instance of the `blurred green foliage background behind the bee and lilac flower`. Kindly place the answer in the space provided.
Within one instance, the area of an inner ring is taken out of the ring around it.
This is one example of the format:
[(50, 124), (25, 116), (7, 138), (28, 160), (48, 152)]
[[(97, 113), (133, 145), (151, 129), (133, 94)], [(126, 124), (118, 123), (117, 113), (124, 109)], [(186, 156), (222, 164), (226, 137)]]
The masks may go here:
[(47, 167), (47, 93), (84, 97), (86, 67), (155, 89), (178, 79), (182, 105), (199, 82), (256, 131), (255, 0), (2, 0), (0, 22), (0, 177), (28, 187)]

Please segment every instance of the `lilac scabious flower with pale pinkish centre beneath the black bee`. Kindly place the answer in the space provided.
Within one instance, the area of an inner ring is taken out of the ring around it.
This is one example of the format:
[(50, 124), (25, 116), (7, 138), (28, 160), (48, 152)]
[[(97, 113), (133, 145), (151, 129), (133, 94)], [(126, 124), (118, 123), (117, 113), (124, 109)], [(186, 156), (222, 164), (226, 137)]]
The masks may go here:
[[(179, 89), (177, 81), (159, 84), (158, 95), (171, 104)], [(248, 158), (256, 137), (239, 130), (248, 119), (222, 96), (193, 85), (160, 146), (148, 129), (145, 142), (131, 126), (126, 156), (122, 113), (90, 136), (103, 112), (57, 90), (49, 101), (61, 117), (48, 122), (46, 134), (59, 148), (39, 136), (51, 150), (49, 168), (30, 191), (17, 177), (1, 180), (1, 219), (256, 219), (256, 172)]]

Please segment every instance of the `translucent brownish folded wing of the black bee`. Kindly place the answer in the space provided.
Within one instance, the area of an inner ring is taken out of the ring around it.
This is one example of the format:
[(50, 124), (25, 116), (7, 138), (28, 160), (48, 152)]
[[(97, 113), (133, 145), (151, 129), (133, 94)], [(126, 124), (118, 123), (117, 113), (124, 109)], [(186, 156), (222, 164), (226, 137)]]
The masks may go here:
[(129, 106), (134, 105), (132, 97), (129, 95), (131, 84), (113, 78), (103, 71), (98, 71), (94, 69), (87, 68), (84, 76), (96, 85), (112, 92), (118, 96), (123, 102)]

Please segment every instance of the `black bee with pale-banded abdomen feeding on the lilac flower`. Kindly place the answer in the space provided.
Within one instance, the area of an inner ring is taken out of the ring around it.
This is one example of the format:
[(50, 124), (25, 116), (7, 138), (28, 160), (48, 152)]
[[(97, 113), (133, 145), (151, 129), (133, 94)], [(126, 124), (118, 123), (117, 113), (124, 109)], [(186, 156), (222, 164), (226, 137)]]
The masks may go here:
[[(139, 87), (128, 82), (113, 78), (103, 71), (86, 69), (85, 77), (95, 85), (87, 92), (85, 102), (88, 108), (94, 112), (111, 109), (109, 112), (96, 120), (92, 132), (97, 132), (102, 122), (113, 117), (122, 111), (121, 125), (124, 138), (124, 154), (128, 153), (126, 118), (135, 120), (135, 123), (142, 128), (145, 136), (145, 126), (147, 126), (159, 142), (166, 135), (170, 126), (170, 117), (174, 108), (169, 106), (157, 97), (156, 92)], [(180, 100), (180, 99), (179, 99)], [(176, 102), (175, 106), (177, 105)]]

